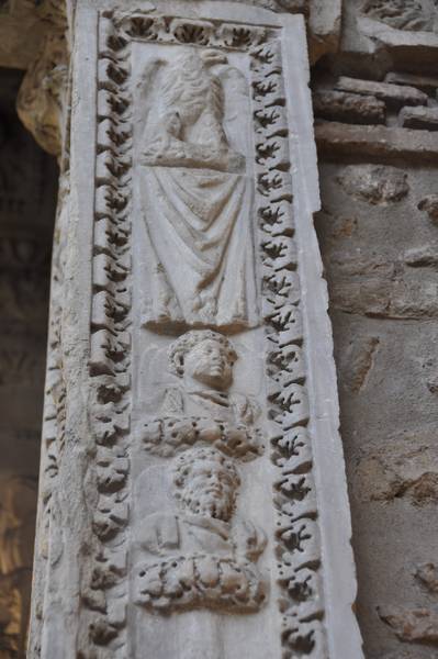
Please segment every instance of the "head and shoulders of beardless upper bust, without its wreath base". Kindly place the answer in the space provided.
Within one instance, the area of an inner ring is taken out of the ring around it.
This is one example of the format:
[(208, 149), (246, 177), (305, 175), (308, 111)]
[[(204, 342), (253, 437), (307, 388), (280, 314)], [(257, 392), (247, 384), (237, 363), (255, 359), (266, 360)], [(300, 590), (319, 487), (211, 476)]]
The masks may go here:
[(218, 332), (192, 330), (181, 335), (168, 349), (169, 370), (181, 384), (167, 388), (162, 411), (254, 424), (260, 414), (257, 402), (229, 392), (237, 359), (232, 342)]

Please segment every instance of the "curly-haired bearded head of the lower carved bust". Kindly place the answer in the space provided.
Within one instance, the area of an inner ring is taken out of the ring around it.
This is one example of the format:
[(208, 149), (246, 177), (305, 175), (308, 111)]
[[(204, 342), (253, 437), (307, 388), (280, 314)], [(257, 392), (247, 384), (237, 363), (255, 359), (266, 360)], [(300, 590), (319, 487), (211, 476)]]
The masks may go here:
[(234, 462), (214, 448), (198, 447), (177, 458), (176, 496), (187, 512), (228, 522), (240, 478)]

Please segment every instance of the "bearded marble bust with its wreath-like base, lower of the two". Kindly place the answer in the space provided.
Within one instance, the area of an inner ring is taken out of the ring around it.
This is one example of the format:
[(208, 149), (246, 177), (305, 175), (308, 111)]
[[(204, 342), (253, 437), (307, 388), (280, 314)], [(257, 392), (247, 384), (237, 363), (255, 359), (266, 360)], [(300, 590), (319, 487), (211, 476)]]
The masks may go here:
[(234, 515), (239, 473), (218, 450), (199, 446), (173, 463), (176, 513), (148, 515), (135, 541), (147, 556), (134, 569), (137, 604), (168, 613), (193, 607), (258, 611), (266, 584), (257, 559), (263, 532)]

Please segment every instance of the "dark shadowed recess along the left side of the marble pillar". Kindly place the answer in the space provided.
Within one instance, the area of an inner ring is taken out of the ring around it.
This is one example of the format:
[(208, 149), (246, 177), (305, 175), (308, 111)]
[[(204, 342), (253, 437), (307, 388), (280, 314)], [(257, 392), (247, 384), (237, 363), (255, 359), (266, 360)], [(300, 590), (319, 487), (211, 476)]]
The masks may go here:
[(57, 171), (0, 69), (0, 657), (24, 657), (40, 465)]

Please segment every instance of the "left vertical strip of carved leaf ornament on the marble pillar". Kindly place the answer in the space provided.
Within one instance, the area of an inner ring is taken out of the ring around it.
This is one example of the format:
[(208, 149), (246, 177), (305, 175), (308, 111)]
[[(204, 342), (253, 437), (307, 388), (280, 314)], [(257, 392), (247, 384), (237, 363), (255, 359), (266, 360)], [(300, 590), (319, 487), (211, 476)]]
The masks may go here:
[[(112, 22), (101, 20), (90, 346), (99, 492), (93, 530), (98, 549), (91, 578), (82, 585), (82, 599), (93, 612), (87, 619), (89, 641), (94, 647), (111, 644), (117, 656), (124, 651), (127, 602), (124, 529), (128, 520), (131, 412), (130, 72), (130, 44), (117, 45)], [(86, 648), (83, 652), (88, 655)]]

